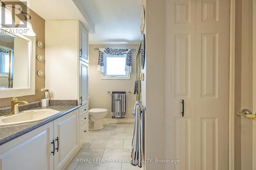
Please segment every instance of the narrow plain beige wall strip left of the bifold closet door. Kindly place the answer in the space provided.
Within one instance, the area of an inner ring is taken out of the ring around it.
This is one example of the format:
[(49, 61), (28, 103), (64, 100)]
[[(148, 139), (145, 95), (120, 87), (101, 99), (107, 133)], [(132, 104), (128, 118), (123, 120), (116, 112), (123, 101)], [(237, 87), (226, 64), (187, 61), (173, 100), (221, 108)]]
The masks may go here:
[[(164, 155), (164, 0), (146, 0), (145, 6), (145, 158), (155, 160)], [(163, 163), (146, 163), (145, 168), (163, 169)]]

